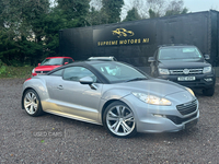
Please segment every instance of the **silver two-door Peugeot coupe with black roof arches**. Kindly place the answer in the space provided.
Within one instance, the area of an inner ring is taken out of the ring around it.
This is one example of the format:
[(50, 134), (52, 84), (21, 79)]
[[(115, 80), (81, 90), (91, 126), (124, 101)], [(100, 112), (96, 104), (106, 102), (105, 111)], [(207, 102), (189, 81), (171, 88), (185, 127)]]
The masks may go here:
[(23, 84), (22, 108), (103, 125), (120, 138), (137, 132), (172, 132), (199, 118), (193, 91), (153, 79), (118, 61), (82, 61), (36, 75)]

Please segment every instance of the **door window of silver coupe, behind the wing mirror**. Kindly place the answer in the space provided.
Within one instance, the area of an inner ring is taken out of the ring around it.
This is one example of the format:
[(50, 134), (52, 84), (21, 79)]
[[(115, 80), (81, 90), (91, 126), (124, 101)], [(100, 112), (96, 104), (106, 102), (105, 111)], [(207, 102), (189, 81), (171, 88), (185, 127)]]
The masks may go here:
[(64, 71), (64, 80), (79, 81), (81, 78), (91, 77), (96, 82), (96, 77), (84, 67), (68, 67)]

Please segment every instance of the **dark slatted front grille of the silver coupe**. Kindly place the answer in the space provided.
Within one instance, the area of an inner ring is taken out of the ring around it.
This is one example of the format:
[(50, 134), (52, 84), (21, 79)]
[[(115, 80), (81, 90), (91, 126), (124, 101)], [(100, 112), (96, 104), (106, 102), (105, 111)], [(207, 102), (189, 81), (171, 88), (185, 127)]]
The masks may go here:
[(188, 115), (197, 109), (197, 101), (177, 105), (176, 108), (182, 115)]

